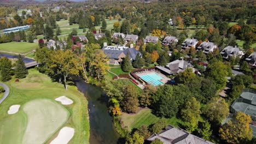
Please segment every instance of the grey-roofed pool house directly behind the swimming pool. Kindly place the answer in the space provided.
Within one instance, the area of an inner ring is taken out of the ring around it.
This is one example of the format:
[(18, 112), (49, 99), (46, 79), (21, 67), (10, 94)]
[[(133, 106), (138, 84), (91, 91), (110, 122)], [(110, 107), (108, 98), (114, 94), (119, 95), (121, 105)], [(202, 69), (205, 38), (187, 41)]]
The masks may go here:
[(161, 66), (156, 66), (156, 68), (158, 68), (159, 70), (162, 71), (162, 73), (166, 74), (166, 75), (172, 75), (172, 74), (178, 74), (183, 72), (187, 67), (190, 67), (193, 69), (194, 73), (199, 73), (197, 69), (194, 68), (194, 66), (186, 61), (184, 61), (183, 59), (179, 60), (177, 59), (176, 61), (173, 61), (171, 63), (167, 63), (167, 65), (165, 65), (165, 67), (161, 67)]

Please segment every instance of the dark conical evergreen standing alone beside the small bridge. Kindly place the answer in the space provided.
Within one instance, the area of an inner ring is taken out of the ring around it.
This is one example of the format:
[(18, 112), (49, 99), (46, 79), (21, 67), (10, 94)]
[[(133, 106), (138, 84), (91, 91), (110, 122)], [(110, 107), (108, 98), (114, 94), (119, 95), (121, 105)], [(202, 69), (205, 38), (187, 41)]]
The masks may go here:
[(17, 77), (18, 79), (22, 79), (22, 78), (26, 77), (28, 74), (27, 68), (25, 66), (25, 63), (24, 63), (21, 55), (19, 55), (19, 57), (18, 57), (18, 61), (16, 63), (14, 73), (15, 73), (15, 77)]

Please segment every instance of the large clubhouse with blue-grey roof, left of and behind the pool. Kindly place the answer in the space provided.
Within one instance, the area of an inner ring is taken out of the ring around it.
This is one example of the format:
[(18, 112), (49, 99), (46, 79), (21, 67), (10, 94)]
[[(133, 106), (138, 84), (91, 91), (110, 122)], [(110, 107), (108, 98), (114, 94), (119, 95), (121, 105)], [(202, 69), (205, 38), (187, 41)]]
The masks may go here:
[(141, 52), (136, 49), (125, 47), (125, 46), (104, 46), (102, 48), (107, 58), (109, 58), (108, 64), (118, 65), (122, 62), (122, 58), (124, 58), (127, 54), (130, 56), (130, 60), (133, 61), (137, 54), (142, 57)]

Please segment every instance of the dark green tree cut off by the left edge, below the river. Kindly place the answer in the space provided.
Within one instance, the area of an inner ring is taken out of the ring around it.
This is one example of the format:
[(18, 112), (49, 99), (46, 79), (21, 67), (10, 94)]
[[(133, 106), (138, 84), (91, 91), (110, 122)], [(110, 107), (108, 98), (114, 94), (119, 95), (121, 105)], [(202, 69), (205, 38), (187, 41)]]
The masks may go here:
[(7, 57), (0, 58), (0, 80), (9, 81), (11, 79), (11, 61)]

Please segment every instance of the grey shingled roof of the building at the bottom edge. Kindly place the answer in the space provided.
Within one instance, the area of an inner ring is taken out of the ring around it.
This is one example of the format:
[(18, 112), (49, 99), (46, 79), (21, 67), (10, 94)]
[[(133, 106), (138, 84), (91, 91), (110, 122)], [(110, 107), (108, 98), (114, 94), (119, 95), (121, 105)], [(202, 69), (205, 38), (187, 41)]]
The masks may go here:
[(173, 127), (170, 124), (161, 130), (160, 133), (151, 135), (147, 140), (153, 141), (155, 139), (159, 139), (164, 144), (213, 144), (210, 141), (190, 134), (181, 128)]

